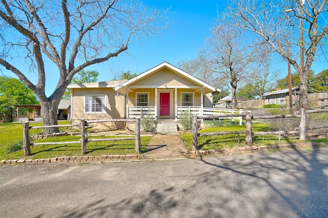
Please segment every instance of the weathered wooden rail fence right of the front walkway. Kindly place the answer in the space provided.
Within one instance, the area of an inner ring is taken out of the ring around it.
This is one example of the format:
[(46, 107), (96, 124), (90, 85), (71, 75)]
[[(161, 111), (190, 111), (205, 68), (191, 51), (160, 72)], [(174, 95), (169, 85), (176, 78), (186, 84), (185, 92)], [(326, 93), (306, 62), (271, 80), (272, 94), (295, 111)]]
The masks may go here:
[[(192, 129), (192, 137), (193, 137), (193, 144), (192, 144), (192, 150), (197, 150), (197, 140), (198, 137), (201, 136), (214, 136), (214, 135), (226, 135), (226, 134), (237, 134), (239, 139), (239, 134), (245, 134), (245, 144), (250, 145), (253, 143), (253, 135), (277, 135), (279, 136), (279, 141), (282, 135), (292, 135), (292, 134), (299, 134), (300, 140), (305, 140), (305, 134), (306, 134), (306, 113), (323, 113), (328, 112), (328, 110), (309, 110), (305, 111), (304, 108), (301, 109), (301, 112), (299, 115), (271, 115), (271, 116), (254, 116), (252, 115), (251, 111), (246, 111), (246, 113), (243, 114), (230, 114), (230, 115), (216, 115), (216, 116), (197, 116), (193, 115), (193, 129)], [(227, 132), (211, 132), (211, 133), (197, 133), (198, 130), (198, 123), (197, 119), (219, 119), (224, 118), (228, 116), (242, 116), (246, 120), (245, 130), (244, 131), (227, 131)], [(258, 120), (258, 119), (274, 119), (274, 118), (290, 118), (290, 117), (296, 117), (300, 118), (300, 126), (299, 130), (295, 131), (276, 131), (276, 132), (252, 132), (252, 119)], [(328, 127), (328, 126), (325, 126)], [(322, 128), (318, 127), (318, 128)], [(313, 129), (313, 128), (311, 128)]]

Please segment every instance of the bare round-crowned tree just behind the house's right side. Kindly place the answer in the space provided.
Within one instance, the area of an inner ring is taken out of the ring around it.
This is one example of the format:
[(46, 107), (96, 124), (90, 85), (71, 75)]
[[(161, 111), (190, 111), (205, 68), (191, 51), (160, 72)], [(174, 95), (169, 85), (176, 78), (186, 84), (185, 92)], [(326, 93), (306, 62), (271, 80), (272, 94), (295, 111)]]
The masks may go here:
[(199, 56), (211, 64), (213, 72), (221, 82), (229, 82), (232, 94), (232, 107), (237, 107), (236, 90), (238, 82), (247, 81), (252, 72), (260, 71), (268, 52), (238, 26), (231, 25), (222, 16), (207, 39), (206, 47)]

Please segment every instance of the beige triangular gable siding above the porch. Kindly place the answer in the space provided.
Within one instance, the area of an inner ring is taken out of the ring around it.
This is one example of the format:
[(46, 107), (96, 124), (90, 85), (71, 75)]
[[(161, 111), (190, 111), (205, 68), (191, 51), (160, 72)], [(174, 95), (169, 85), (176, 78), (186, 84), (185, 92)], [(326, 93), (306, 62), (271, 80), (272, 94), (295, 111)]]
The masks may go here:
[(169, 69), (160, 69), (131, 85), (195, 85), (193, 81), (182, 77)]

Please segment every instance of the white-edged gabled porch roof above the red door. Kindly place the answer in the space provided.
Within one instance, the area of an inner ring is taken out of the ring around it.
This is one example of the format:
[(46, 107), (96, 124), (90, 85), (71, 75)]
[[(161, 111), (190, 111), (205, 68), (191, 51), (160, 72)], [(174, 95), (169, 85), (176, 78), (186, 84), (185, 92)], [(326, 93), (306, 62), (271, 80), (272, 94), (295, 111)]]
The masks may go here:
[[(118, 84), (117, 86), (115, 86), (114, 90), (115, 91), (121, 91), (121, 92), (125, 92), (124, 89), (122, 88), (125, 88), (126, 86), (129, 86), (131, 84), (133, 84), (134, 82), (138, 81), (138, 80), (141, 80), (143, 78), (145, 78), (146, 76), (160, 70), (160, 69), (163, 69), (163, 68), (169, 68), (171, 69), (172, 71), (174, 71), (176, 74), (179, 74), (181, 75), (182, 77), (185, 77), (189, 80), (192, 80), (193, 82), (195, 82), (197, 84), (197, 87), (190, 87), (188, 85), (186, 86), (183, 86), (183, 87), (178, 87), (178, 88), (207, 88), (209, 91), (211, 92), (221, 92), (221, 90), (217, 89), (216, 87), (214, 87), (213, 85), (210, 85), (180, 69), (178, 69), (177, 67), (174, 67), (172, 64), (168, 63), (168, 62), (162, 62), (161, 64), (157, 65), (156, 67), (144, 72), (144, 73), (141, 73), (125, 82), (122, 82), (120, 84)], [(176, 86), (175, 86), (176, 87)], [(157, 86), (157, 87), (151, 87), (151, 88), (171, 88), (171, 87), (168, 87), (166, 84), (162, 84), (161, 86)]]

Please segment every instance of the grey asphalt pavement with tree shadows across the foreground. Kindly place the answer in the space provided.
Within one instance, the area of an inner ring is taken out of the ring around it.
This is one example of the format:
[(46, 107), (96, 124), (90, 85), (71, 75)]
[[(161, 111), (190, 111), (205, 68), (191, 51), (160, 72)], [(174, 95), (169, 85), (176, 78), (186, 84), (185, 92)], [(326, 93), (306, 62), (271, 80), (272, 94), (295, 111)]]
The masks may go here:
[(328, 148), (0, 166), (0, 217), (327, 217)]

